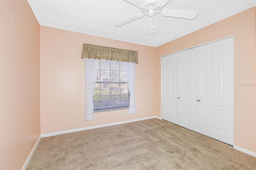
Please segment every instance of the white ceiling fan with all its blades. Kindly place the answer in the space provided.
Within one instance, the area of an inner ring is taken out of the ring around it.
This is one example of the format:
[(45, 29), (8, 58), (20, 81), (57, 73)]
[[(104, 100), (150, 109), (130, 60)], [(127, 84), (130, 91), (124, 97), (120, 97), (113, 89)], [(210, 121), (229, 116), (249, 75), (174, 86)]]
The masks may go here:
[[(157, 33), (157, 22), (156, 22), (156, 14), (161, 14), (162, 16), (175, 17), (175, 18), (184, 18), (193, 20), (198, 15), (197, 11), (188, 11), (188, 10), (177, 10), (177, 9), (163, 9), (170, 0), (124, 0), (129, 2), (130, 4), (137, 6), (143, 12), (143, 14), (137, 14), (126, 20), (116, 23), (114, 26), (120, 27), (129, 22), (138, 20), (145, 15), (148, 15), (150, 18), (149, 22), (149, 30), (150, 34)], [(162, 10), (162, 11), (161, 11)]]

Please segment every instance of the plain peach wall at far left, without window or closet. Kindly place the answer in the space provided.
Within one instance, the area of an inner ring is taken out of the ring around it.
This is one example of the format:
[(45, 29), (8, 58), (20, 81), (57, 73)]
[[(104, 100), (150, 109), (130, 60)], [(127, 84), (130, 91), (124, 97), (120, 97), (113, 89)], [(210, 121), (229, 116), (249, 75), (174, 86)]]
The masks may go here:
[(40, 26), (27, 1), (0, 4), (0, 169), (18, 170), (40, 136)]

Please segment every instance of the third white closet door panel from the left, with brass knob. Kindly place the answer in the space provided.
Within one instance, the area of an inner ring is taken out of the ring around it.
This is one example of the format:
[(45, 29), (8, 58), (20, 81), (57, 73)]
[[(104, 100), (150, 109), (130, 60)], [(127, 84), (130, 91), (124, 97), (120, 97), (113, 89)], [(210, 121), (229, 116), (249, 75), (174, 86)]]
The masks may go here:
[(188, 51), (188, 128), (207, 135), (206, 45)]

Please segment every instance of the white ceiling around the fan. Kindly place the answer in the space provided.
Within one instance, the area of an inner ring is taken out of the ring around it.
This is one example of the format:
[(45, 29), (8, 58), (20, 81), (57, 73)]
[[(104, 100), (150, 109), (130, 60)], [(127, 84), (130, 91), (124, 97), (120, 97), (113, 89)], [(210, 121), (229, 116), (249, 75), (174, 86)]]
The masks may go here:
[(180, 38), (256, 6), (256, 0), (171, 0), (163, 9), (198, 11), (194, 20), (156, 14), (158, 33), (150, 35), (144, 16), (121, 27), (114, 24), (143, 14), (124, 0), (28, 0), (39, 24), (152, 47)]

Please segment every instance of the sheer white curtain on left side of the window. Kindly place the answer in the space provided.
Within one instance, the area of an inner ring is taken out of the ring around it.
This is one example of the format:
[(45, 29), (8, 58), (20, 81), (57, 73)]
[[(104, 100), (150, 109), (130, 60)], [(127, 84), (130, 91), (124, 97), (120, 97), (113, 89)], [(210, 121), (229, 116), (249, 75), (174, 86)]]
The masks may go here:
[(99, 67), (98, 59), (84, 58), (84, 83), (85, 83), (85, 100), (84, 100), (84, 120), (91, 121), (93, 119), (93, 100), (97, 72)]

